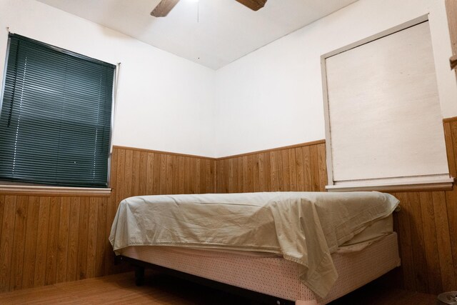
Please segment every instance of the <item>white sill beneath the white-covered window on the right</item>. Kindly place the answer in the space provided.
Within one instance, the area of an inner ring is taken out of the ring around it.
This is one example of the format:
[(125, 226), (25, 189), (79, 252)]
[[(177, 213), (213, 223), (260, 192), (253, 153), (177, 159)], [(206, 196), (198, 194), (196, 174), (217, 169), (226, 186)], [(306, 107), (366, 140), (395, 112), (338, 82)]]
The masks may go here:
[(344, 183), (326, 186), (327, 191), (449, 191), (454, 179), (428, 181), (396, 181), (384, 183)]

